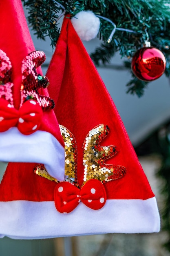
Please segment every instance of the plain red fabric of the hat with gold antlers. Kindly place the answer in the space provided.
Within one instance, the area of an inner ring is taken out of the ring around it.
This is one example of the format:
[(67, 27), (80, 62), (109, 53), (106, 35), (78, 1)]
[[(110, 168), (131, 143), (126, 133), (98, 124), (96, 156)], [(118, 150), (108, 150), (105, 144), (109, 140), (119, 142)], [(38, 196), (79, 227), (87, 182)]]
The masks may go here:
[[(119, 148), (119, 153), (108, 159), (107, 164), (122, 165), (127, 171), (124, 177), (104, 184), (107, 199), (152, 198), (154, 194), (113, 100), (67, 17), (46, 76), (50, 79), (50, 97), (56, 104), (55, 115), (59, 123), (72, 132), (77, 143), (79, 185), (84, 175), (84, 139), (95, 126), (106, 124), (110, 132), (100, 145)], [(34, 166), (9, 164), (0, 185), (1, 201), (54, 200), (56, 182), (35, 175)]]

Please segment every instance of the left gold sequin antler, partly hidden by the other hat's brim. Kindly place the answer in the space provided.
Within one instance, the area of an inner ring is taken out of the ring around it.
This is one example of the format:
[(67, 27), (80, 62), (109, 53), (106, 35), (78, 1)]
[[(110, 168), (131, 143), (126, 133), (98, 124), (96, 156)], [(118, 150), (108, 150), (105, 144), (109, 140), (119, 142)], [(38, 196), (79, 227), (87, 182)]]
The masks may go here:
[[(60, 126), (60, 132), (65, 144), (65, 177), (64, 180), (78, 186), (77, 178), (76, 178), (76, 164), (77, 164), (77, 149), (76, 142), (73, 134), (66, 129), (64, 126)], [(57, 168), (57, 166), (56, 166)], [(51, 177), (43, 164), (39, 164), (35, 166), (34, 173), (37, 175), (44, 177), (48, 180), (54, 180), (58, 182), (56, 179)]]

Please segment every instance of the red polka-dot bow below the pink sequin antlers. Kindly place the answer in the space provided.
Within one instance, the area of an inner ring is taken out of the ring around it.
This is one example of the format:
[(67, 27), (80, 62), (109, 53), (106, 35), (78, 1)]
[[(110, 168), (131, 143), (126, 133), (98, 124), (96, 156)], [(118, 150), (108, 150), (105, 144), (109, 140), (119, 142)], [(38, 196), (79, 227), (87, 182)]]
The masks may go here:
[(17, 126), (18, 130), (29, 135), (40, 127), (42, 108), (34, 100), (26, 101), (19, 110), (12, 108), (8, 101), (0, 99), (0, 132)]

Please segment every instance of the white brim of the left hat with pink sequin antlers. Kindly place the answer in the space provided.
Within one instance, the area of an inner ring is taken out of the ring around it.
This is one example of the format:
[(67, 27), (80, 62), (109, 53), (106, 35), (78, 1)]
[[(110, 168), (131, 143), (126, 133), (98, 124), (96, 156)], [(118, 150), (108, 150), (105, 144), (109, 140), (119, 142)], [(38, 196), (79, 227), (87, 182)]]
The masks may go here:
[(0, 132), (0, 161), (44, 164), (51, 176), (64, 180), (64, 147), (49, 132), (23, 135), (16, 127)]

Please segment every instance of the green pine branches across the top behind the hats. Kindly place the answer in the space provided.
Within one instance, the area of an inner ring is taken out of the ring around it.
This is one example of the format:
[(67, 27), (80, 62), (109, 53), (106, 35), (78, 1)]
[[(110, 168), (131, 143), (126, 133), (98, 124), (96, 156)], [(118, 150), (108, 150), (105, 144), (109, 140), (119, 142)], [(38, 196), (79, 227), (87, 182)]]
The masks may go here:
[[(29, 10), (29, 23), (38, 38), (51, 39), (54, 47), (60, 35), (57, 19), (63, 11), (62, 7), (53, 0), (22, 0)], [(109, 63), (115, 52), (121, 57), (131, 58), (143, 46), (148, 32), (151, 45), (163, 52), (167, 60), (166, 76), (170, 76), (170, 3), (169, 0), (58, 0), (71, 16), (79, 11), (91, 10), (95, 14), (112, 20), (117, 28), (131, 29), (116, 30), (113, 40), (107, 43), (113, 26), (101, 19), (100, 34), (102, 44), (95, 49), (91, 57), (96, 65)], [(132, 79), (127, 86), (127, 92), (143, 95), (147, 83)]]

